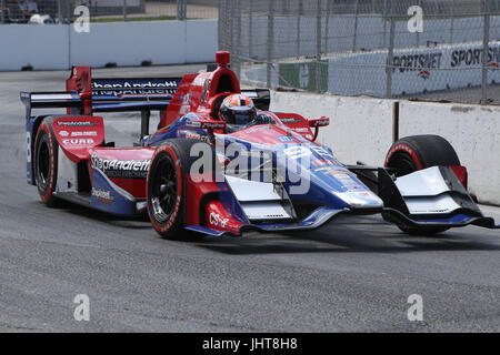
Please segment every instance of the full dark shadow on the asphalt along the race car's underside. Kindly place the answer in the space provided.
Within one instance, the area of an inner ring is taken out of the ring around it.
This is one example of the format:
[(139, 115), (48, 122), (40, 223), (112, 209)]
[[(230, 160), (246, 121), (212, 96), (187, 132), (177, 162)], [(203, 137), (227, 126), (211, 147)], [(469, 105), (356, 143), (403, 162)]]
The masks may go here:
[[(42, 204), (41, 202), (38, 202)], [(86, 206), (61, 202), (54, 209), (72, 217), (84, 217), (124, 230), (150, 230), (157, 235), (147, 215), (122, 217)], [(461, 232), (466, 230), (467, 233)], [(393, 224), (373, 216), (339, 216), (314, 231), (281, 233), (247, 232), (241, 237), (213, 237), (186, 243), (229, 255), (300, 254), (300, 253), (410, 253), (429, 251), (499, 251), (496, 236), (479, 234), (478, 227), (450, 230), (432, 237), (409, 236)], [(459, 232), (460, 231), (460, 232)], [(159, 236), (158, 236), (159, 237)], [(491, 242), (489, 239), (493, 240)]]

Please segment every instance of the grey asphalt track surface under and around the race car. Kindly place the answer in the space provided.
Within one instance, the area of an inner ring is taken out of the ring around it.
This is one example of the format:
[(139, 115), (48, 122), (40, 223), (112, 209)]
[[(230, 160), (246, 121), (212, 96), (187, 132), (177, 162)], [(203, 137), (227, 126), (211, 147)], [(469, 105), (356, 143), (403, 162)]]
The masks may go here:
[[(26, 183), (19, 91), (62, 90), (68, 74), (0, 73), (1, 332), (500, 331), (499, 231), (413, 237), (378, 216), (339, 217), (314, 232), (187, 243), (159, 239), (144, 221), (44, 206)], [(131, 144), (139, 120), (114, 114), (106, 129)], [(77, 294), (90, 298), (89, 322), (73, 318)], [(422, 296), (422, 322), (407, 318), (411, 294)]]

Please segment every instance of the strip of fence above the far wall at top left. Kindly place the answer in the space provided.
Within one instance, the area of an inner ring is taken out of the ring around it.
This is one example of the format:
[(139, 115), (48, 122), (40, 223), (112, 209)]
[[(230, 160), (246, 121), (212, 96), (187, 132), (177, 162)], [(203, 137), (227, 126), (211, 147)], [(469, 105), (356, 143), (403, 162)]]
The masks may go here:
[(87, 7), (91, 22), (217, 19), (218, 0), (0, 0), (0, 23), (70, 23)]

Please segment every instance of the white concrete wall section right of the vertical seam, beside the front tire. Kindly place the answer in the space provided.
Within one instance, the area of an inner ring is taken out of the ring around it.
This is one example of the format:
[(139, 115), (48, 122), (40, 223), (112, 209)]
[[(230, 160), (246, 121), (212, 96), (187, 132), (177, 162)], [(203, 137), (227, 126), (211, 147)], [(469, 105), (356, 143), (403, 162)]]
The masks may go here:
[(401, 101), (399, 124), (400, 136), (446, 138), (468, 168), (470, 190), (500, 205), (500, 106)]

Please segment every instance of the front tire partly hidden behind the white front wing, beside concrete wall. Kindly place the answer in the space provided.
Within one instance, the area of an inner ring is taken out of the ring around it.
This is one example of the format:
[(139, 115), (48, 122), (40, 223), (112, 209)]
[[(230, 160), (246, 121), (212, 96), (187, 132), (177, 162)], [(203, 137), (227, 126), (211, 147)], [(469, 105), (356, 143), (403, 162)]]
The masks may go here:
[[(394, 142), (386, 156), (384, 166), (397, 169), (396, 176), (403, 176), (434, 165), (460, 165), (453, 146), (446, 139), (433, 134), (410, 135)], [(414, 227), (398, 224), (410, 235), (434, 235), (449, 227)]]

